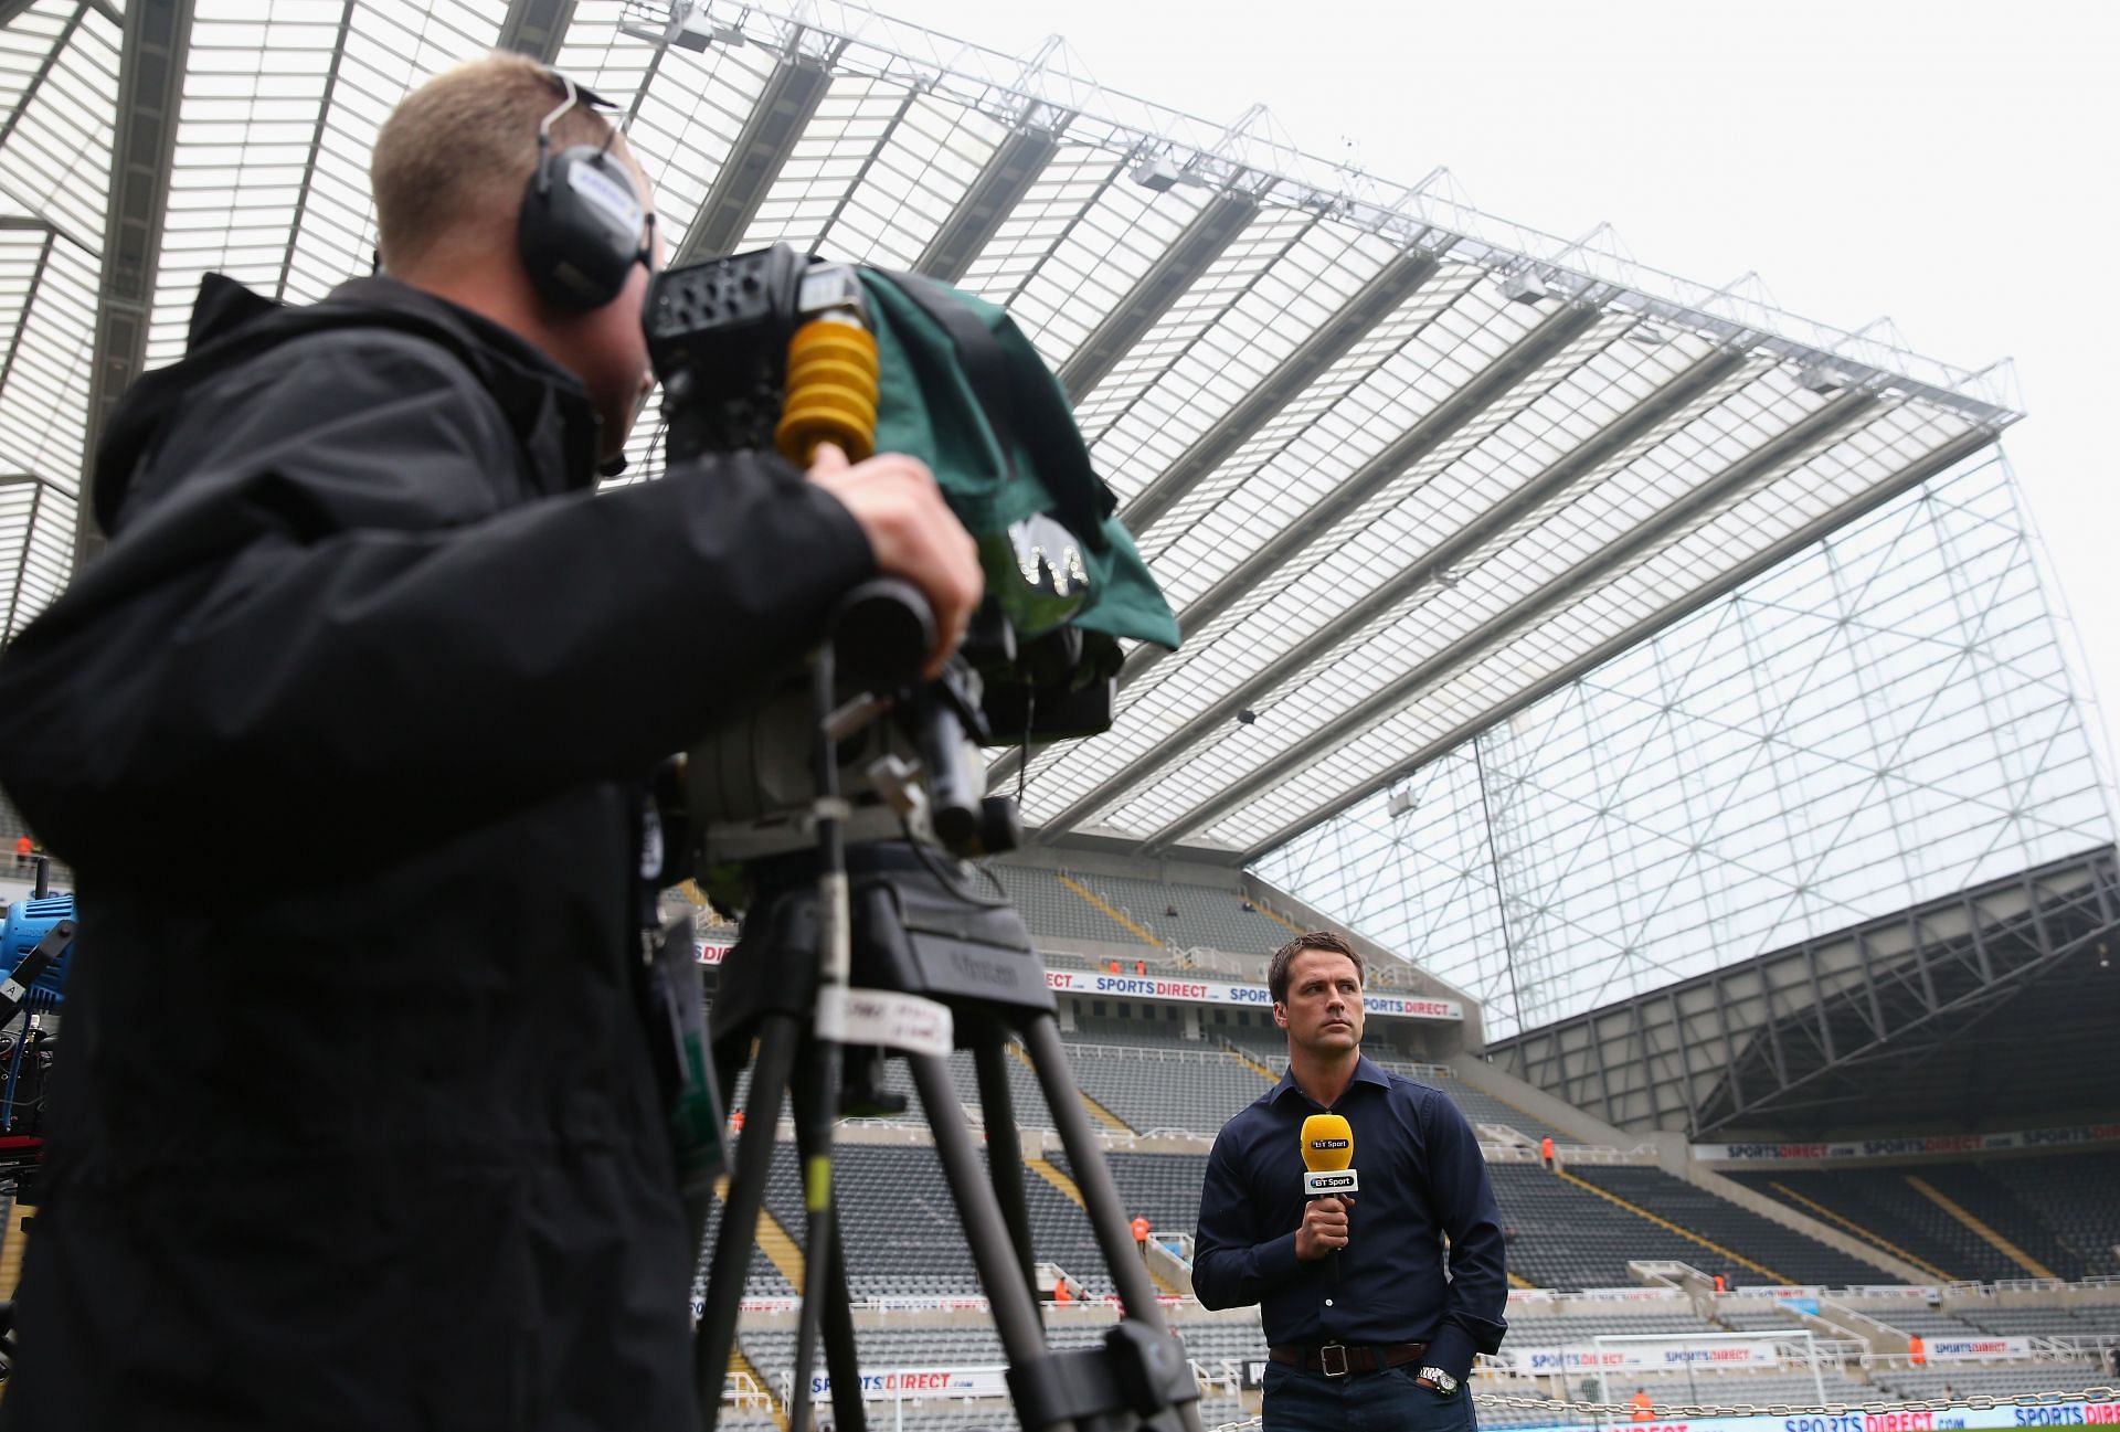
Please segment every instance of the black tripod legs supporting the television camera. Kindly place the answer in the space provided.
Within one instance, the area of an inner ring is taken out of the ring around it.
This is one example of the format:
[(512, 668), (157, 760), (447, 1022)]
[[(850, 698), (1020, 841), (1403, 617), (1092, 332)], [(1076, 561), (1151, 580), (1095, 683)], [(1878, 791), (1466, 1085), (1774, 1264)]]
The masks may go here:
[[(979, 1284), (1009, 1360), (1009, 1394), (1026, 1432), (1198, 1432), (1198, 1388), (1164, 1322), (1117, 1184), (1075, 1093), (1054, 1023), (1045, 964), (1022, 917), (1003, 902), (965, 894), (924, 852), (903, 841), (846, 852), (850, 883), (852, 983), (861, 989), (924, 996), (952, 1013), (956, 1046), (969, 1049), (986, 1110), (988, 1180), (941, 1053), (905, 1053), (935, 1152), (956, 1201)], [(761, 866), (759, 898), (721, 968), (712, 1049), (721, 1089), (736, 1087), (753, 1038), (746, 1123), (736, 1152), (706, 1309), (693, 1347), (693, 1373), (706, 1432), (712, 1432), (721, 1381), (736, 1341), (753, 1227), (765, 1201), (774, 1129), (793, 1095), (797, 1157), (806, 1171), (808, 1248), (803, 1315), (795, 1352), (793, 1428), (808, 1432), (812, 1328), (820, 1324), (840, 1432), (863, 1432), (861, 1373), (846, 1288), (846, 1256), (829, 1188), (831, 1121), (840, 1049), (816, 1038), (820, 896), (816, 869), (801, 858)], [(1126, 1307), (1100, 1347), (1052, 1352), (1039, 1320), (1030, 1263), (1024, 1159), (1009, 1104), (1007, 1051), (1018, 1034), (1037, 1072), (1060, 1144), (1075, 1169), (1098, 1250)], [(825, 1176), (818, 1176), (825, 1169)], [(812, 1307), (820, 1301), (820, 1307)]]

